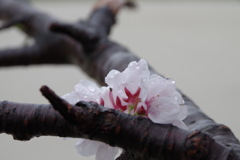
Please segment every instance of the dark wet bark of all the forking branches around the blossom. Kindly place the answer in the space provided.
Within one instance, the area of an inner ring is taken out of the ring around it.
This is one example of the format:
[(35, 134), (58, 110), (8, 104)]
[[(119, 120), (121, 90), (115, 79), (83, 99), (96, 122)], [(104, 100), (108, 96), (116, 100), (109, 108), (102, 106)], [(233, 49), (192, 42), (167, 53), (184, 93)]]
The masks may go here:
[[(22, 30), (36, 42), (27, 48), (0, 51), (0, 66), (77, 64), (104, 84), (111, 69), (122, 71), (139, 58), (108, 38), (123, 4), (116, 7), (112, 3), (117, 1), (100, 2), (85, 21), (66, 24), (26, 3), (0, 0), (0, 18), (6, 21), (2, 28), (21, 24)], [(151, 71), (157, 73), (152, 68)], [(48, 99), (62, 116), (51, 105), (4, 101), (0, 103), (0, 133), (12, 134), (18, 140), (42, 135), (95, 139), (125, 149), (119, 160), (240, 159), (240, 144), (231, 130), (215, 123), (184, 94), (189, 111), (184, 120), (188, 131), (153, 124), (146, 118), (106, 110), (93, 103), (72, 106), (50, 90), (42, 91), (49, 93)]]

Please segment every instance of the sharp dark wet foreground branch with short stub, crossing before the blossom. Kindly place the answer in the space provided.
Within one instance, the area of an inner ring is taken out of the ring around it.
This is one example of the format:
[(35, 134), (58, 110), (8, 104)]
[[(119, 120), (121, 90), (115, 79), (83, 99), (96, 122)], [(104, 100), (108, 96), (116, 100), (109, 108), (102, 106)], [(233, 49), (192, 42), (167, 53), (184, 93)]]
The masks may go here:
[(73, 106), (46, 86), (41, 91), (64, 118), (49, 105), (0, 102), (0, 133), (20, 140), (39, 135), (84, 137), (121, 147), (133, 153), (133, 159), (239, 159), (202, 132), (155, 124), (93, 102)]

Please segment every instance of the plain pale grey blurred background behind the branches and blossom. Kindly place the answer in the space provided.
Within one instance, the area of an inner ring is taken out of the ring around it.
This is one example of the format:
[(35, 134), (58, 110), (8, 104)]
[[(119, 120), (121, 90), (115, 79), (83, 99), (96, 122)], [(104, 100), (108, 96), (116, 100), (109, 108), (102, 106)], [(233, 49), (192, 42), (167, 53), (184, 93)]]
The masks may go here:
[[(86, 17), (92, 4), (34, 1), (36, 8), (69, 22)], [(173, 78), (207, 115), (240, 138), (239, 28), (239, 1), (138, 1), (138, 9), (119, 14), (111, 37)], [(15, 29), (0, 32), (1, 49), (25, 40)], [(74, 66), (0, 68), (0, 100), (48, 103), (38, 91), (41, 85), (63, 95), (87, 78)], [(1, 134), (0, 159), (93, 160), (75, 152), (75, 141), (40, 137), (20, 142)]]

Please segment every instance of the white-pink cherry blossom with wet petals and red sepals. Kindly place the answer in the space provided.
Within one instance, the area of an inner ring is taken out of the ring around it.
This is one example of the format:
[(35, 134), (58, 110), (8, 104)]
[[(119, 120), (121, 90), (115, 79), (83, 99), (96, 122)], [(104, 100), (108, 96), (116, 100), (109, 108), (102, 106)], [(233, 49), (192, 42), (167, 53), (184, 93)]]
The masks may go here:
[[(98, 87), (90, 81), (80, 81), (75, 91), (63, 96), (68, 102), (94, 101), (107, 108), (146, 116), (155, 123), (172, 124), (187, 129), (183, 119), (187, 107), (175, 82), (156, 74), (150, 74), (147, 62), (133, 61), (123, 71), (112, 70), (105, 78), (107, 87)], [(96, 154), (96, 160), (112, 160), (117, 154), (116, 147), (102, 142), (81, 139), (77, 150), (81, 155)]]

